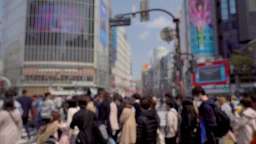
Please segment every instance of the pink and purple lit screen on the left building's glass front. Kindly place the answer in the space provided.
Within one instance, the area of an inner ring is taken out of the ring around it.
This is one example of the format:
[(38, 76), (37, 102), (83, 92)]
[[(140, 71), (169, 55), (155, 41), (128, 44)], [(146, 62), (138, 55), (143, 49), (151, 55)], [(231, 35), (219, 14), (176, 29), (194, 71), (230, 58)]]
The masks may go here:
[(77, 19), (78, 8), (64, 5), (42, 5), (35, 18), (39, 32), (83, 32), (83, 21)]

